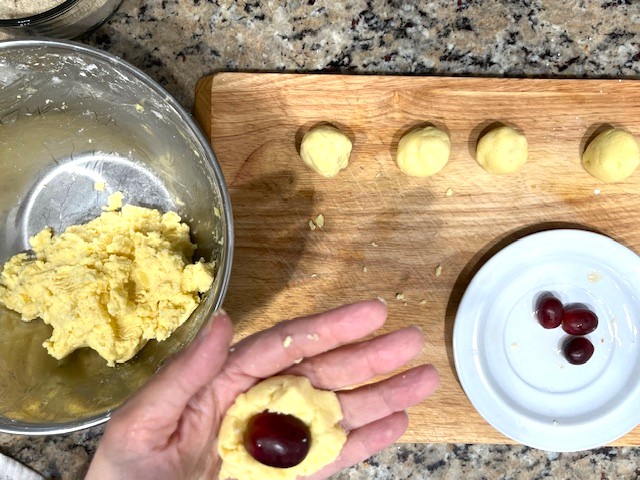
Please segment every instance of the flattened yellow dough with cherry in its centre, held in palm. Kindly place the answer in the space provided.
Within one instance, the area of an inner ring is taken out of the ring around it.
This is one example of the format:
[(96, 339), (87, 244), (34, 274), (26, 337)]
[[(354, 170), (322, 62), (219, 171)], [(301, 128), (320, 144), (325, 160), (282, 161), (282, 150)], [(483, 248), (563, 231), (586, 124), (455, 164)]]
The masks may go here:
[(306, 377), (271, 377), (241, 394), (218, 435), (220, 479), (295, 480), (333, 462), (347, 434), (334, 392)]

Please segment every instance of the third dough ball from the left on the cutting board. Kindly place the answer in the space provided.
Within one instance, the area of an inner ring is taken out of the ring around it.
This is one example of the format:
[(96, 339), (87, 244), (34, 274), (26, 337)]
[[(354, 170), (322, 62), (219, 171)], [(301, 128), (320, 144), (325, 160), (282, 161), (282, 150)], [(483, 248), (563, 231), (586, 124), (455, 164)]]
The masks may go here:
[(485, 134), (476, 148), (476, 161), (496, 175), (520, 170), (527, 163), (527, 139), (511, 127), (494, 128)]

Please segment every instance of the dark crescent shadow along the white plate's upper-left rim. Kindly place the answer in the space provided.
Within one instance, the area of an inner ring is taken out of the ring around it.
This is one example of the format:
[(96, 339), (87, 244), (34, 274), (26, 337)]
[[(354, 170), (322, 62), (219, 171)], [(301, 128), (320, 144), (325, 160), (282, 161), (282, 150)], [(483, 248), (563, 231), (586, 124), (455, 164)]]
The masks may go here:
[(460, 301), (462, 300), (462, 296), (469, 286), (469, 283), (471, 282), (475, 274), (478, 273), (480, 268), (482, 268), (482, 266), (487, 263), (491, 257), (493, 257), (503, 248), (511, 245), (516, 240), (519, 240), (533, 233), (558, 229), (574, 229), (603, 233), (594, 228), (589, 228), (587, 226), (571, 222), (545, 222), (535, 225), (529, 225), (512, 232), (507, 232), (504, 236), (499, 237), (495, 243), (486, 245), (482, 250), (478, 251), (473, 256), (471, 261), (467, 263), (467, 265), (462, 269), (462, 272), (458, 276), (453, 286), (451, 295), (449, 296), (449, 301), (447, 302), (444, 325), (447, 359), (458, 384), (460, 384), (460, 379), (458, 378), (458, 373), (456, 372), (455, 361), (453, 358), (453, 327), (456, 319), (456, 313), (458, 312), (458, 307), (460, 306)]

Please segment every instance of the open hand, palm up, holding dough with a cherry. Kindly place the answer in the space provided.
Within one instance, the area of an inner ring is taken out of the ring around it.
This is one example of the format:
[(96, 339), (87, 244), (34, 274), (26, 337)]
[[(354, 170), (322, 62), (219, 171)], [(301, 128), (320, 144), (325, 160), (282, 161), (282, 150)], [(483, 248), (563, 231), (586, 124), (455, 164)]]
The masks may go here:
[[(226, 410), (238, 395), (279, 374), (303, 375), (316, 388), (335, 390), (349, 432), (338, 459), (307, 480), (327, 478), (369, 458), (404, 433), (404, 410), (438, 385), (435, 368), (420, 365), (341, 390), (402, 367), (422, 350), (416, 327), (354, 343), (381, 327), (386, 317), (381, 301), (355, 303), (279, 323), (230, 351), (231, 320), (218, 312), (188, 348), (113, 413), (87, 480), (217, 479), (221, 459), (216, 442)], [(293, 342), (285, 348), (287, 337)]]

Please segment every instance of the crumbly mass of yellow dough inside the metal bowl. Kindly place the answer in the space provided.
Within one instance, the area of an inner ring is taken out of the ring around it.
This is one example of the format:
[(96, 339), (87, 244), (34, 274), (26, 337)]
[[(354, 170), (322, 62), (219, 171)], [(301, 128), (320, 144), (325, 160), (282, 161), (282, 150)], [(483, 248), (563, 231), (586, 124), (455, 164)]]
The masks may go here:
[(125, 205), (113, 194), (109, 211), (54, 235), (30, 239), (0, 276), (0, 303), (53, 327), (43, 344), (61, 359), (90, 347), (109, 366), (126, 362), (150, 339), (166, 340), (213, 282), (214, 265), (192, 264), (196, 246), (175, 212)]

